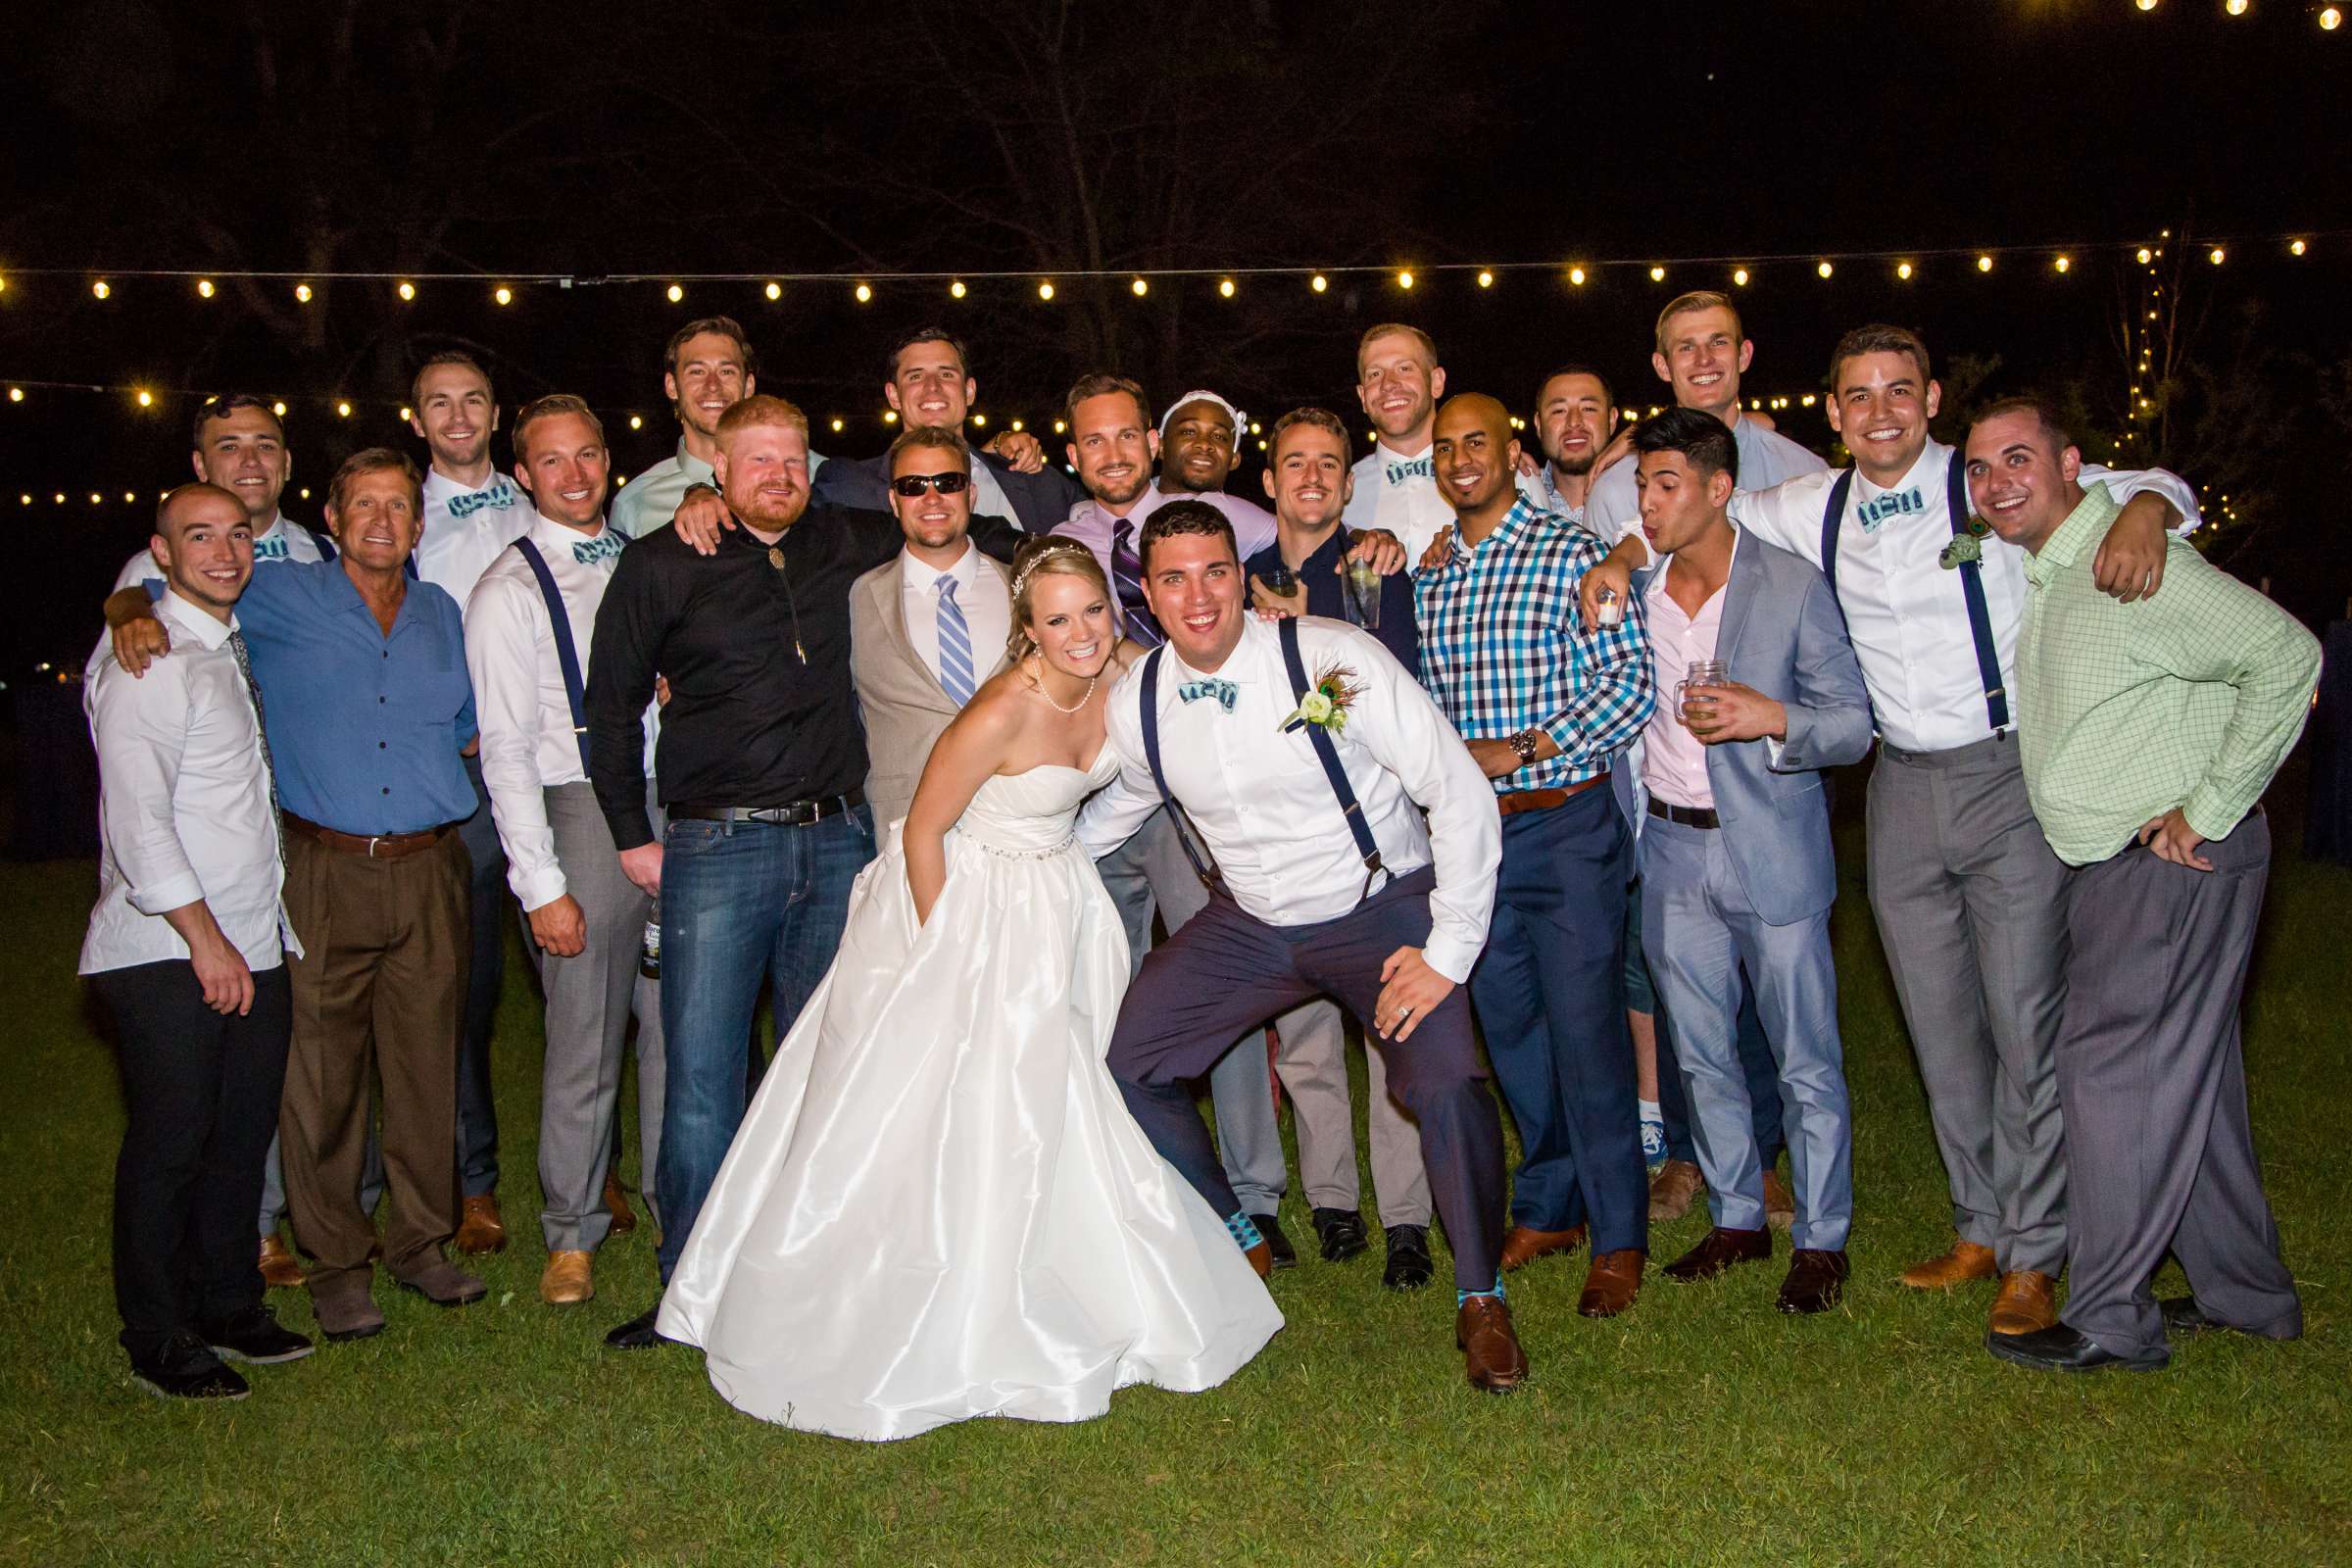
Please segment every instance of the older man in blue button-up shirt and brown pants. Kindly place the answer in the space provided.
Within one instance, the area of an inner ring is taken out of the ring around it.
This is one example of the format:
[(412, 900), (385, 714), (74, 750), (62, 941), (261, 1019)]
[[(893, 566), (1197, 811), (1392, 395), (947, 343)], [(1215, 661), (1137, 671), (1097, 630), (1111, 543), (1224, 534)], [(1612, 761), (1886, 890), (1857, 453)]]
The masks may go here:
[[(294, 1234), (318, 1258), (310, 1305), (329, 1340), (381, 1333), (376, 1227), (353, 1197), (367, 1084), (383, 1081), (393, 1276), (456, 1307), (482, 1281), (442, 1258), (456, 1227), (456, 1011), (473, 816), (459, 752), (475, 741), (456, 602), (405, 571), (423, 496), (416, 465), (376, 447), (336, 470), (334, 562), (263, 574), (240, 599), (263, 736), (285, 811), (294, 1044), (280, 1143)], [(143, 590), (106, 602), (129, 670), (169, 644)]]

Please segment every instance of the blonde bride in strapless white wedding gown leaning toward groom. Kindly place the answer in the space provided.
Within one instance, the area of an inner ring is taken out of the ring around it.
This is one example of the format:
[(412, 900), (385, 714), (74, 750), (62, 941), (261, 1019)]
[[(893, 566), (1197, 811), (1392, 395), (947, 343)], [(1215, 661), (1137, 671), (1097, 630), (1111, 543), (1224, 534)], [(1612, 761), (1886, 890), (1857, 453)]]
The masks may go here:
[(1089, 1420), (1129, 1382), (1209, 1389), (1282, 1326), (1103, 1067), (1127, 936), (1070, 835), (1117, 771), (1094, 555), (1025, 555), (1014, 628), (858, 879), (661, 1300), (661, 1333), (762, 1420), (868, 1441)]

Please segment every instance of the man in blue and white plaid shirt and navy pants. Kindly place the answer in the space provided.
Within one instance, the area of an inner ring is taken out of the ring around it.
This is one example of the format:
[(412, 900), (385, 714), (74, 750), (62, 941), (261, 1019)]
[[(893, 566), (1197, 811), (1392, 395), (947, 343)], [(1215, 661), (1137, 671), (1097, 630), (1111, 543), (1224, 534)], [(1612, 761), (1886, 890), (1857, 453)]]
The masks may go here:
[(1414, 581), (1421, 679), (1503, 813), (1494, 926), (1470, 973), (1519, 1124), (1503, 1267), (1573, 1251), (1590, 1222), (1576, 1309), (1616, 1316), (1642, 1288), (1649, 1185), (1625, 1032), (1632, 835), (1609, 764), (1649, 722), (1649, 637), (1630, 597), (1616, 625), (1578, 618), (1576, 583), (1606, 550), (1515, 491), (1501, 402), (1449, 400), (1432, 456), (1458, 529)]

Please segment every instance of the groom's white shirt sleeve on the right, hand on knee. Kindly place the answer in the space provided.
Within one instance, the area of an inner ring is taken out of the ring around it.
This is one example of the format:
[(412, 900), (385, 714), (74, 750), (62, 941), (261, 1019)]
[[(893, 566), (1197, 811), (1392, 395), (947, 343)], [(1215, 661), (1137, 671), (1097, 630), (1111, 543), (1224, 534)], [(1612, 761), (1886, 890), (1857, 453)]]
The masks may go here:
[(1430, 940), (1421, 957), (1461, 985), (1486, 945), (1494, 877), (1503, 865), (1503, 816), (1494, 806), (1494, 785), (1470, 762), (1470, 748), (1430, 693), (1369, 632), (1357, 632), (1357, 639), (1369, 644), (1352, 661), (1364, 679), (1355, 701), (1362, 729), (1350, 719), (1348, 731), (1430, 816), (1437, 889), (1430, 893)]

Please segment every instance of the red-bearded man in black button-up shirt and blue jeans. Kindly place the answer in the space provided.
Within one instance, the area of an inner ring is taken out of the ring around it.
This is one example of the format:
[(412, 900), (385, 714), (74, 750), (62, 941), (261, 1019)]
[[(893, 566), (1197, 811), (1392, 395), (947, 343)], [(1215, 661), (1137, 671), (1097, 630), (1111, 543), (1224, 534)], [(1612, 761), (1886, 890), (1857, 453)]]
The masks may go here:
[[(743, 1037), (760, 980), (774, 985), (776, 1027), (790, 1030), (833, 964), (849, 886), (875, 853), (849, 682), (849, 585), (903, 543), (887, 512), (809, 505), (809, 421), (781, 397), (727, 409), (715, 475), (739, 527), (710, 555), (675, 527), (633, 543), (597, 609), (588, 665), (597, 804), (621, 870), (661, 898), (663, 1279), (743, 1121)], [(1021, 538), (997, 520), (971, 529), (1000, 557)], [(654, 769), (670, 823), (659, 842), (640, 729), (656, 675), (670, 684)], [(635, 1349), (656, 1338), (644, 1312), (609, 1342)]]

